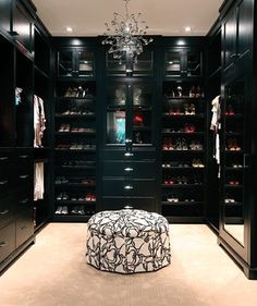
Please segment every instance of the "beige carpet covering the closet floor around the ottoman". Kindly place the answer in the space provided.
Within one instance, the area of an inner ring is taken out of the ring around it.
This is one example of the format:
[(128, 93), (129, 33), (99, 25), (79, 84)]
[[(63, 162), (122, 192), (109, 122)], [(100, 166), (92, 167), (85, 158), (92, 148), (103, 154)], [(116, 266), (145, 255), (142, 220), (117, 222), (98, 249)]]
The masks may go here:
[(51, 223), (0, 278), (1, 306), (256, 306), (257, 281), (206, 225), (171, 225), (172, 264), (151, 273), (101, 272), (85, 262), (86, 224)]

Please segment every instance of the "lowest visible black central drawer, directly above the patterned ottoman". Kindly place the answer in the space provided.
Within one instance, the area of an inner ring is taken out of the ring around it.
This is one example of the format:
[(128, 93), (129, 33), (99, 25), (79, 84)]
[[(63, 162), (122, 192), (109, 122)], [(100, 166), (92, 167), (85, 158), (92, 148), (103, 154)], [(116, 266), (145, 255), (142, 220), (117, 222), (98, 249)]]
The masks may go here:
[(155, 197), (103, 197), (102, 209), (144, 209), (147, 211), (156, 211)]

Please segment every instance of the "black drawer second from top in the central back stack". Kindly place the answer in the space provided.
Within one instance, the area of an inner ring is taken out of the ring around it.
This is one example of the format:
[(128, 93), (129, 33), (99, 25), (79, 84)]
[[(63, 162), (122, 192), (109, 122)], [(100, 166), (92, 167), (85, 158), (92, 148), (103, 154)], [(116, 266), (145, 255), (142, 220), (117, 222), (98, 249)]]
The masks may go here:
[(149, 161), (106, 161), (103, 176), (133, 176), (135, 179), (151, 179), (156, 176), (155, 160)]

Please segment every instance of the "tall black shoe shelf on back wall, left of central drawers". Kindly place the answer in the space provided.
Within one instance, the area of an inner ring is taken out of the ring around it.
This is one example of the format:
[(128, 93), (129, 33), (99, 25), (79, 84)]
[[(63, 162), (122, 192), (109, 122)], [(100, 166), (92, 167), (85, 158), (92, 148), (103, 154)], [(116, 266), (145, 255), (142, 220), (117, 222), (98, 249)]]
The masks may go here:
[(54, 220), (86, 221), (96, 211), (96, 84), (57, 83)]

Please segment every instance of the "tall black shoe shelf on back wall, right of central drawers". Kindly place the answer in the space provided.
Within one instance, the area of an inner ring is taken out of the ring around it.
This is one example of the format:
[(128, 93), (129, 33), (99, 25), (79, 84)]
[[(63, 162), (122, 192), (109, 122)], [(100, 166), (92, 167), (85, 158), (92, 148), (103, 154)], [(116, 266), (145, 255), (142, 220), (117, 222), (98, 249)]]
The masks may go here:
[(204, 216), (206, 102), (195, 82), (163, 82), (161, 209), (171, 220)]

